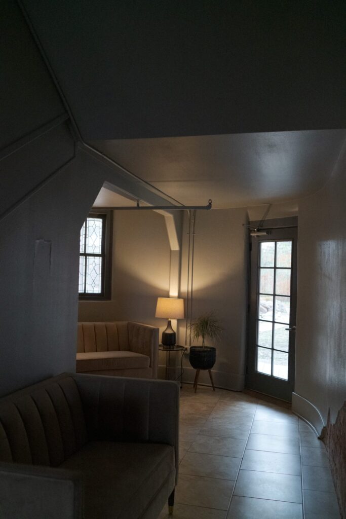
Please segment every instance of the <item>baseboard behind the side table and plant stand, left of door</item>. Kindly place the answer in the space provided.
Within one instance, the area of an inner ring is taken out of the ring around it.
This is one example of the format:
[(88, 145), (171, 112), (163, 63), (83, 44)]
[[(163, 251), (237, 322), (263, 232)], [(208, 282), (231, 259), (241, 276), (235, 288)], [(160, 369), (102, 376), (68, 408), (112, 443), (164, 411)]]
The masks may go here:
[[(174, 379), (180, 375), (180, 366), (173, 366), (170, 368), (170, 378)], [(193, 384), (195, 380), (196, 370), (191, 366), (184, 366), (183, 382)], [(231, 391), (243, 391), (245, 376), (237, 373), (226, 373), (223, 371), (212, 370), (214, 386), (219, 389), (229, 389)], [(165, 365), (159, 365), (159, 378), (165, 378)], [(202, 386), (210, 386), (211, 382), (209, 373), (201, 371), (198, 384)]]

